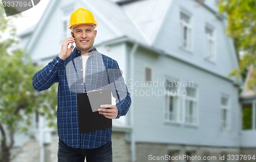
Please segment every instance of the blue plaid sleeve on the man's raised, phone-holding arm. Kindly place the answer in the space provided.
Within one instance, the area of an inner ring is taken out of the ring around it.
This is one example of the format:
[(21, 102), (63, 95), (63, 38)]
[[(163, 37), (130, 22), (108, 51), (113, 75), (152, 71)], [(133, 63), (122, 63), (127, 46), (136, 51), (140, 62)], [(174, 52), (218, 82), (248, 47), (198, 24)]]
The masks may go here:
[(58, 82), (58, 69), (64, 61), (58, 56), (54, 58), (48, 65), (37, 71), (33, 76), (33, 88), (36, 91), (45, 91), (54, 83)]

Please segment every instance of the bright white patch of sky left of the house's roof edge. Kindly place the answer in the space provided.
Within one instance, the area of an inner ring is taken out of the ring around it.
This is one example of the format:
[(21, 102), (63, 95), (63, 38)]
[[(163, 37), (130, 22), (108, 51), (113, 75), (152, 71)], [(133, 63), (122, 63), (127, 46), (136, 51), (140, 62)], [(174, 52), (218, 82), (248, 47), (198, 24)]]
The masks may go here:
[(49, 2), (50, 0), (41, 0), (33, 8), (22, 12), (21, 17), (14, 19), (13, 21), (17, 28), (17, 34), (36, 24), (41, 19)]

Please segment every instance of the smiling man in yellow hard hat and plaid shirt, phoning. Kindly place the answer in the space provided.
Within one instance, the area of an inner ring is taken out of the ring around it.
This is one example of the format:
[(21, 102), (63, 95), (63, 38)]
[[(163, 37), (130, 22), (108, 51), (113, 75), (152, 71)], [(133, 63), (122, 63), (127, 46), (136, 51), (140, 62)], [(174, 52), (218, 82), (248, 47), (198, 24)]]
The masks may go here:
[[(117, 62), (93, 47), (96, 27), (97, 21), (89, 10), (74, 11), (69, 25), (72, 37), (66, 38), (59, 55), (33, 76), (36, 91), (47, 90), (58, 83), (59, 162), (80, 162), (85, 158), (88, 162), (112, 161), (111, 128), (80, 133), (77, 94), (111, 88), (116, 105), (102, 104), (99, 108), (103, 109), (98, 109), (99, 114), (109, 119), (126, 115), (131, 105)], [(68, 48), (72, 43), (76, 47)]]

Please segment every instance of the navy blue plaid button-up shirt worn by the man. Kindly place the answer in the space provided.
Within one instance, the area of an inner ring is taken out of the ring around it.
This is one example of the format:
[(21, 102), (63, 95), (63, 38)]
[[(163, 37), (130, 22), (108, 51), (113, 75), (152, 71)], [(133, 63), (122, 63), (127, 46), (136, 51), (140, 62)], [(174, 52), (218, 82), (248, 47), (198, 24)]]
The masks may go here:
[[(83, 80), (82, 70), (79, 70), (79, 68), (81, 68), (79, 66), (82, 64), (74, 65), (75, 60), (81, 60), (81, 52), (76, 48), (65, 61), (57, 56), (47, 66), (34, 74), (33, 88), (36, 91), (44, 91), (49, 89), (54, 83), (58, 83), (57, 127), (60, 140), (74, 148), (97, 148), (111, 140), (112, 129), (109, 128), (88, 133), (79, 132), (77, 93), (102, 89), (102, 87), (111, 88), (112, 94), (116, 98), (116, 106), (118, 109), (117, 119), (120, 116), (126, 115), (131, 105), (131, 98), (120, 73), (111, 72), (111, 70), (113, 71), (114, 69), (120, 71), (115, 60), (102, 55), (96, 48), (93, 48), (89, 51), (84, 83), (83, 81), (78, 82), (79, 80)], [(102, 65), (99, 64), (99, 62), (102, 62)], [(72, 72), (70, 65), (74, 65), (75, 71)], [(68, 66), (70, 67), (67, 68)], [(104, 66), (104, 70), (102, 66)], [(102, 74), (104, 72), (106, 72), (106, 75)], [(78, 77), (76, 80), (72, 81), (75, 75)], [(106, 84), (106, 82), (108, 82), (108, 84)]]

